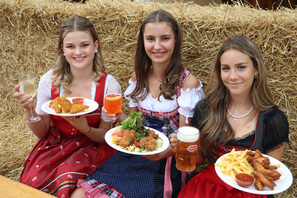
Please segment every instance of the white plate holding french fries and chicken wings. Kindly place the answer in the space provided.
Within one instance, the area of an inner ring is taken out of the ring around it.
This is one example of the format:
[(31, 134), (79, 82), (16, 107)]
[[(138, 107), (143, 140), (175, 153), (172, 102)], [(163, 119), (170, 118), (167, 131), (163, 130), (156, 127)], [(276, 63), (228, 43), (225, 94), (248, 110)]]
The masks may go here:
[[(240, 151), (235, 151), (235, 152), (240, 152)], [(226, 153), (223, 156), (226, 157), (228, 154), (229, 153)], [(216, 161), (216, 163), (220, 164), (223, 156), (221, 156)], [(249, 193), (253, 193), (253, 194), (276, 194), (276, 193), (280, 193), (282, 191), (287, 190), (293, 182), (293, 176), (292, 176), (291, 171), (285, 166), (285, 164), (278, 161), (277, 159), (270, 157), (268, 155), (265, 155), (265, 154), (263, 154), (263, 156), (268, 157), (271, 164), (280, 164), (280, 167), (275, 171), (277, 171), (277, 172), (282, 171), (282, 175), (280, 176), (279, 180), (273, 181), (274, 183), (277, 184), (277, 186), (275, 186), (273, 190), (270, 190), (267, 186), (264, 187), (263, 191), (256, 190), (255, 185), (254, 185), (255, 183), (253, 183), (248, 188), (243, 188), (241, 186), (238, 186), (237, 183), (234, 182), (231, 175), (225, 175), (224, 173), (221, 173), (220, 172), (221, 167), (215, 166), (215, 170), (216, 170), (219, 178), (221, 178), (225, 183), (227, 183), (228, 185), (230, 185), (236, 189), (239, 189), (239, 190), (242, 190), (245, 192), (249, 192)]]

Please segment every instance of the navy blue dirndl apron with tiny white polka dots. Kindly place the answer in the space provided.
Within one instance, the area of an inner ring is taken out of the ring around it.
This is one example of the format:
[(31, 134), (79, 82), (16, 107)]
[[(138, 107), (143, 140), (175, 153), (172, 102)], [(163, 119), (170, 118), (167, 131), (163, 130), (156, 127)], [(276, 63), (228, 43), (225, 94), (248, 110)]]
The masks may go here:
[[(167, 159), (151, 161), (140, 155), (118, 151), (101, 164), (89, 179), (108, 184), (126, 198), (161, 198), (166, 161)], [(177, 197), (181, 191), (181, 172), (176, 169), (175, 164), (173, 158), (170, 166), (172, 197)]]

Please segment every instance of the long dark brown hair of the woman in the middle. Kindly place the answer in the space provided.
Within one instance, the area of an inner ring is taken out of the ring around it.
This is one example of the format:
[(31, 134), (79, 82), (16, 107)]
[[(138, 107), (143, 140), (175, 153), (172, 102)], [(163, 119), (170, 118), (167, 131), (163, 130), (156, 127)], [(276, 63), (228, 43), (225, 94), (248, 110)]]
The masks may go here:
[[(147, 94), (149, 93), (149, 86), (148, 86), (148, 73), (150, 72), (152, 61), (149, 56), (146, 54), (144, 48), (144, 40), (143, 40), (143, 32), (146, 24), (152, 22), (166, 22), (173, 30), (176, 45), (174, 47), (172, 58), (170, 64), (168, 65), (167, 69), (162, 73), (162, 83), (160, 85), (160, 94), (158, 99), (161, 95), (164, 96), (165, 99), (172, 100), (172, 96), (176, 94), (176, 86), (178, 85), (178, 78), (183, 73), (184, 69), (181, 64), (181, 29), (175, 20), (175, 18), (169, 13), (164, 10), (157, 10), (151, 12), (141, 24), (138, 40), (137, 40), (137, 49), (136, 49), (136, 56), (135, 56), (135, 74), (137, 79), (137, 84), (135, 89), (129, 96), (132, 97), (135, 101), (143, 100), (146, 98)], [(169, 80), (168, 80), (169, 79)], [(146, 91), (144, 91), (146, 88)], [(136, 96), (140, 94), (139, 98), (137, 99)]]

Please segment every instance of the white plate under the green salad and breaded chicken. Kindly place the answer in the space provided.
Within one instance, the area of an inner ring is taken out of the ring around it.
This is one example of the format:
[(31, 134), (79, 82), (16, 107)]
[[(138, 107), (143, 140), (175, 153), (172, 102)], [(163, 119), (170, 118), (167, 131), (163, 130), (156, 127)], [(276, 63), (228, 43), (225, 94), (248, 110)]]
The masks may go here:
[(145, 126), (145, 128), (150, 129), (150, 130), (154, 130), (154, 132), (159, 135), (159, 138), (161, 138), (161, 140), (163, 140), (163, 144), (158, 150), (148, 151), (146, 153), (140, 153), (140, 152), (128, 151), (126, 149), (120, 148), (119, 145), (111, 143), (111, 140), (113, 139), (113, 137), (111, 137), (111, 134), (112, 134), (111, 132), (114, 131), (116, 128), (112, 128), (108, 132), (106, 132), (105, 141), (108, 143), (108, 145), (110, 145), (112, 148), (114, 148), (114, 149), (116, 149), (118, 151), (122, 151), (124, 153), (135, 154), (135, 155), (152, 155), (152, 154), (160, 153), (160, 152), (164, 151), (166, 148), (168, 148), (169, 140), (168, 140), (168, 137), (166, 137), (166, 135), (162, 134), (161, 132), (157, 131), (156, 129), (152, 129), (152, 128), (146, 127), (146, 126)]

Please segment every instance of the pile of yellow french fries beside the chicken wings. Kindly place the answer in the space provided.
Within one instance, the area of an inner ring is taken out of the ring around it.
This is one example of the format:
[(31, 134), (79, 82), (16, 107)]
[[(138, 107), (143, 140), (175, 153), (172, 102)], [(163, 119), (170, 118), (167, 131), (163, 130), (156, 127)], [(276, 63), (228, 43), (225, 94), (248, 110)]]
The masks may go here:
[[(247, 151), (249, 151), (248, 152), (249, 155), (247, 154)], [(255, 153), (255, 151), (251, 151), (251, 152)], [(255, 165), (252, 166), (250, 164), (250, 162), (251, 162), (250, 158), (247, 159), (248, 156), (250, 156), (252, 154), (251, 152), (250, 152), (250, 150), (235, 152), (235, 148), (233, 148), (232, 151), (230, 153), (228, 153), (228, 155), (226, 157), (225, 156), (222, 157), (222, 160), (220, 163), (216, 163), (216, 164), (214, 164), (214, 166), (220, 167), (220, 172), (224, 173), (225, 175), (231, 175), (234, 182), (236, 182), (236, 179), (235, 179), (236, 172), (245, 172), (245, 173), (255, 175), (257, 172), (257, 171), (255, 171), (255, 169), (253, 167)], [(259, 151), (257, 151), (257, 152), (259, 152)], [(263, 156), (262, 156), (262, 159), (263, 159)], [(268, 158), (266, 158), (266, 159), (268, 159)], [(280, 164), (269, 164), (269, 167), (270, 167), (269, 169), (273, 170), (273, 169), (279, 168)], [(279, 172), (279, 173), (282, 175), (282, 172)]]

